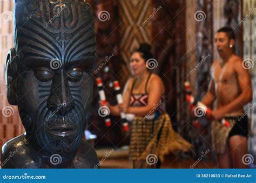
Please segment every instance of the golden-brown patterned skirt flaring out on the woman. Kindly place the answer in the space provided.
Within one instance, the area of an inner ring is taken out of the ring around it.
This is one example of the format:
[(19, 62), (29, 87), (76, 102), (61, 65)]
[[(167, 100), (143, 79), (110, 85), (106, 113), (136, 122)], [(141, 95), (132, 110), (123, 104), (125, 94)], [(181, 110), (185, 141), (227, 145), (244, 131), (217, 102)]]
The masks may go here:
[(155, 154), (163, 162), (165, 154), (177, 155), (193, 147), (172, 129), (171, 119), (166, 113), (155, 121), (135, 117), (131, 130), (130, 159), (139, 164), (134, 167), (150, 167), (145, 161), (149, 154)]

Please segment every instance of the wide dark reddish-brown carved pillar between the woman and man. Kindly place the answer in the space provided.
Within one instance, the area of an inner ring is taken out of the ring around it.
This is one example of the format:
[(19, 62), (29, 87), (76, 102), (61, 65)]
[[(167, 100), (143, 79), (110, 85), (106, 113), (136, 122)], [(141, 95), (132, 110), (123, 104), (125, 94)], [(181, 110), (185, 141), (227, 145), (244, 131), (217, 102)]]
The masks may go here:
[[(181, 87), (178, 83), (184, 77), (183, 55), (185, 54), (185, 2), (155, 1), (152, 8), (157, 13), (152, 18), (152, 51), (158, 61), (155, 72), (165, 83), (166, 110), (171, 116), (174, 128), (182, 120)], [(177, 129), (177, 128), (176, 128)]]

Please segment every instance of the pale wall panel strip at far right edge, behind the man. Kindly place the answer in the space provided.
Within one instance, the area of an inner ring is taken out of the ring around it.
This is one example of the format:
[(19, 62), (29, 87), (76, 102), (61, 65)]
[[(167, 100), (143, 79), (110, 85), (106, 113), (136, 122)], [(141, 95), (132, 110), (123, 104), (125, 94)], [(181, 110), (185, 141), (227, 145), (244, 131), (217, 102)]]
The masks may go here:
[(254, 157), (254, 166), (256, 166), (256, 2), (254, 0), (243, 1), (242, 17), (239, 20), (243, 27), (243, 59), (248, 61), (252, 77), (253, 101), (246, 110), (249, 117), (249, 138), (248, 150)]

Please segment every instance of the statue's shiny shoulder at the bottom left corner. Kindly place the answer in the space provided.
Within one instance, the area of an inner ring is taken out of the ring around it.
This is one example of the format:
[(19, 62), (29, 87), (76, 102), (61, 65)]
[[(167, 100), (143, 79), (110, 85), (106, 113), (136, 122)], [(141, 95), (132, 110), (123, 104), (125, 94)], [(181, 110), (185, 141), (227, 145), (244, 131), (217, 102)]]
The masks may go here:
[(31, 159), (29, 142), (24, 135), (15, 137), (2, 147), (2, 168), (37, 168)]

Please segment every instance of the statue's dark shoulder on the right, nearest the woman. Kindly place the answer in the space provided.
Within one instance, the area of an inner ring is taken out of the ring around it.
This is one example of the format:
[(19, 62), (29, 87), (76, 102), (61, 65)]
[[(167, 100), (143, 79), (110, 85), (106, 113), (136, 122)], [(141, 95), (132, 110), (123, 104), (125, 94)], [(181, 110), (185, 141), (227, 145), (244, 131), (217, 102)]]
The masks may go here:
[(96, 150), (84, 139), (78, 147), (74, 164), (78, 165), (78, 168), (99, 168)]

